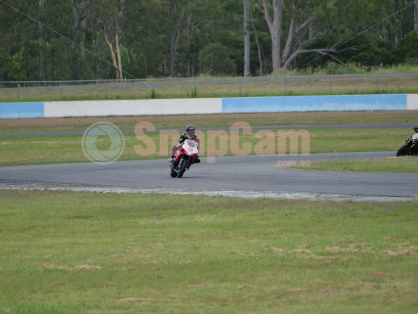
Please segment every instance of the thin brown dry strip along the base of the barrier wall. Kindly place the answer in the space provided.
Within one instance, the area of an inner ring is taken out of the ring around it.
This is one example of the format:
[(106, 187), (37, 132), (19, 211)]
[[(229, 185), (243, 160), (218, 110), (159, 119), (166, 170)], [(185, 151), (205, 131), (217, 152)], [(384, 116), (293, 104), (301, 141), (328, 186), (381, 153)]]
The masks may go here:
[[(295, 119), (307, 117), (371, 117), (371, 116), (398, 116), (405, 114), (418, 114), (418, 110), (400, 111), (361, 111), (361, 112), (273, 112), (249, 114), (190, 114), (187, 120), (208, 121), (225, 119)], [(38, 119), (3, 119), (3, 127), (15, 126), (89, 126), (95, 122), (109, 121), (113, 124), (137, 124), (140, 121), (164, 122), (185, 121), (184, 114), (171, 116), (129, 116), (129, 117), (75, 117), (75, 118), (38, 118)], [(280, 125), (280, 121), (277, 121)]]

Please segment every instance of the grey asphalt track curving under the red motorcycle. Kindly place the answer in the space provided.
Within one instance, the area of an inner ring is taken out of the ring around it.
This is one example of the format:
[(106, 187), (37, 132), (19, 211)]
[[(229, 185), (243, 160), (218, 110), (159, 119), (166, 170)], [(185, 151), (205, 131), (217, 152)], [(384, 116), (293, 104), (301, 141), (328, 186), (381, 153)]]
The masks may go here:
[(202, 158), (181, 179), (169, 176), (166, 159), (110, 165), (69, 163), (0, 167), (0, 188), (59, 188), (116, 192), (196, 193), (357, 200), (414, 199), (418, 174), (327, 172), (286, 167), (300, 161), (391, 158), (395, 153), (311, 154), (309, 156)]

